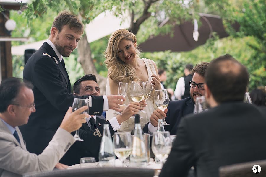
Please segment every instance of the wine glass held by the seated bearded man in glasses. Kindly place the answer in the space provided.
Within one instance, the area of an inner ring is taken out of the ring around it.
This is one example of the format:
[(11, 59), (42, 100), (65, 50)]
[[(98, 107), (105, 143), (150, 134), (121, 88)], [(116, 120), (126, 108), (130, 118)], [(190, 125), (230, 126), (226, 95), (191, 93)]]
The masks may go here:
[[(167, 108), (169, 101), (170, 101), (167, 89), (155, 90), (154, 99), (155, 99), (155, 104), (157, 105), (157, 107), (160, 110), (164, 111)], [(163, 117), (163, 125), (170, 125), (170, 124), (165, 122), (164, 117)]]

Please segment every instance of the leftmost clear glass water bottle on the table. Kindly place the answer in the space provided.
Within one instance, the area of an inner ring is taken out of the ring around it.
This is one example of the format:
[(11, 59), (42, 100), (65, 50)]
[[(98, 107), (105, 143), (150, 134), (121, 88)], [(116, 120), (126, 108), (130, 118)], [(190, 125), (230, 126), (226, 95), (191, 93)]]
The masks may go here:
[[(103, 124), (103, 136), (99, 150), (99, 165), (114, 166), (114, 160), (115, 155), (113, 152), (113, 142), (109, 130), (109, 124)], [(108, 163), (109, 161), (110, 163)]]

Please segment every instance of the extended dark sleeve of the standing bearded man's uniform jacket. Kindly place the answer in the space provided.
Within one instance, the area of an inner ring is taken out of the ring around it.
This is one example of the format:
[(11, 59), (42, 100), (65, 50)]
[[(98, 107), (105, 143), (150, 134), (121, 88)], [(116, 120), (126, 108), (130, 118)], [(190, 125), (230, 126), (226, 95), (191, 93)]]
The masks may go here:
[[(33, 83), (40, 92), (46, 96), (46, 99), (59, 111), (67, 110), (72, 106), (74, 98), (88, 98), (88, 96), (76, 96), (68, 92), (64, 83), (61, 81), (59, 70), (51, 58), (44, 56), (36, 60)], [(103, 112), (103, 97), (92, 96), (92, 107), (89, 114), (101, 115)]]

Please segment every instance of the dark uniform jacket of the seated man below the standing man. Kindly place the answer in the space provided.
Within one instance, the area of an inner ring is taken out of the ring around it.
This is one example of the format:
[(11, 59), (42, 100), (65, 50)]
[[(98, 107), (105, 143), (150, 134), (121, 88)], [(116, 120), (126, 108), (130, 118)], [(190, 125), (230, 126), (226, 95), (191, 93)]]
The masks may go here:
[(109, 130), (111, 136), (113, 136), (115, 131), (111, 124), (96, 116), (95, 130), (91, 130), (88, 124), (84, 123), (79, 131), (80, 138), (84, 141), (76, 141), (61, 158), (60, 163), (74, 165), (80, 163), (80, 158), (82, 157), (95, 157), (98, 162), (100, 143), (103, 136), (103, 124), (109, 124)]

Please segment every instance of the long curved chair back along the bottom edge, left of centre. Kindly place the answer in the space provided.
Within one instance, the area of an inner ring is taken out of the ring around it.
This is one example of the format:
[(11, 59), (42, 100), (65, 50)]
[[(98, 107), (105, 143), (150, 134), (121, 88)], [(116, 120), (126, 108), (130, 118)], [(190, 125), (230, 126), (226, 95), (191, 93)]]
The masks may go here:
[(41, 173), (27, 173), (23, 177), (153, 177), (154, 170), (148, 168), (131, 167), (95, 167), (95, 168), (77, 168), (69, 170), (54, 170)]

